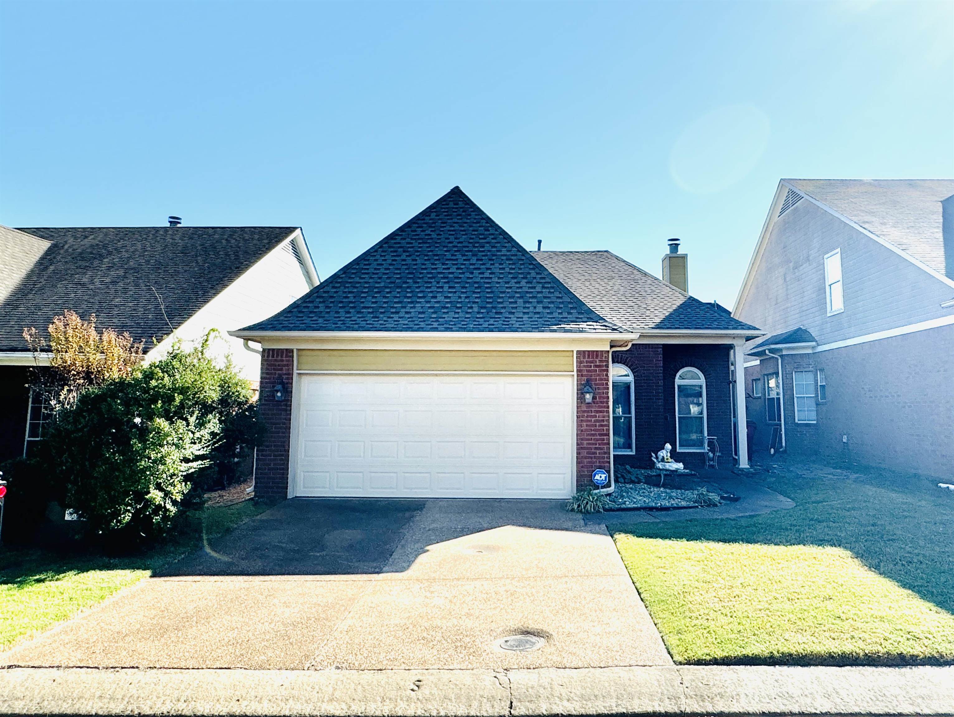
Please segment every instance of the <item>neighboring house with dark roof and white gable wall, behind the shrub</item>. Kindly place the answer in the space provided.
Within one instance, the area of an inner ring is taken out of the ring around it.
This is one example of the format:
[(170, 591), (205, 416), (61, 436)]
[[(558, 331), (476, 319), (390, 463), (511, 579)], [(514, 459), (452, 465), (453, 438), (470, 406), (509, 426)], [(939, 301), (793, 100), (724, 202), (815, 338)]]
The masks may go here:
[[(145, 342), (145, 360), (176, 338), (191, 341), (268, 317), (318, 285), (298, 227), (0, 226), (0, 462), (42, 440), (48, 411), (31, 392), (34, 357), (27, 327), (46, 334), (70, 309), (96, 316), (100, 329)], [(260, 358), (242, 341), (217, 341), (246, 379), (258, 382)]]

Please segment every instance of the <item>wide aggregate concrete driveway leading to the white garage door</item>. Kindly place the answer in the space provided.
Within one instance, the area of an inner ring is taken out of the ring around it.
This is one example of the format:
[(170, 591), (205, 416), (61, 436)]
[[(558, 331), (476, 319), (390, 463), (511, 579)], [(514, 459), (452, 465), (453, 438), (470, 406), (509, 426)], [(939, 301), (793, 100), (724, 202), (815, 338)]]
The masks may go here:
[[(497, 645), (516, 634), (543, 645)], [(305, 499), (281, 503), (0, 663), (672, 665), (605, 527), (562, 502)]]

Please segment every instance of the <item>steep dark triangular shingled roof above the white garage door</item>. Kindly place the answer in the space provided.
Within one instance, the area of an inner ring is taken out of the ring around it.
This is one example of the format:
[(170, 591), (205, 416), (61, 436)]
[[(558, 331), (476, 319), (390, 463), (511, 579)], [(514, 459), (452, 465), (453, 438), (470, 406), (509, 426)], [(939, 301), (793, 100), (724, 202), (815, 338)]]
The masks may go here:
[(244, 331), (618, 332), (454, 187)]

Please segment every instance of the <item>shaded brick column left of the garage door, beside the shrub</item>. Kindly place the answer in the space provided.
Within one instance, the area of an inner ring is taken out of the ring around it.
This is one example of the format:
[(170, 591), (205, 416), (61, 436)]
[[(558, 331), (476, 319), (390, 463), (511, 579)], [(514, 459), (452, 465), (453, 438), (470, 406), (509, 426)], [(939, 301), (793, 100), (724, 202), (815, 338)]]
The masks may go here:
[[(265, 437), (255, 465), (255, 496), (265, 500), (288, 497), (288, 458), (292, 438), (292, 386), (295, 358), (292, 349), (263, 349), (259, 387), (259, 420)], [(275, 384), (282, 379), (285, 399), (275, 399)]]

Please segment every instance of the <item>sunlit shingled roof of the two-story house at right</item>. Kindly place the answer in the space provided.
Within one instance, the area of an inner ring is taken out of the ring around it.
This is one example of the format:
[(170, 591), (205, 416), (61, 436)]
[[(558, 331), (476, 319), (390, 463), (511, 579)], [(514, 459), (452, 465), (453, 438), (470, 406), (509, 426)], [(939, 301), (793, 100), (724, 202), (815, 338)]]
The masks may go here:
[[(939, 274), (954, 278), (954, 236), (947, 236), (945, 246), (942, 204), (954, 195), (954, 179), (783, 181)], [(954, 206), (948, 212), (954, 212)]]

